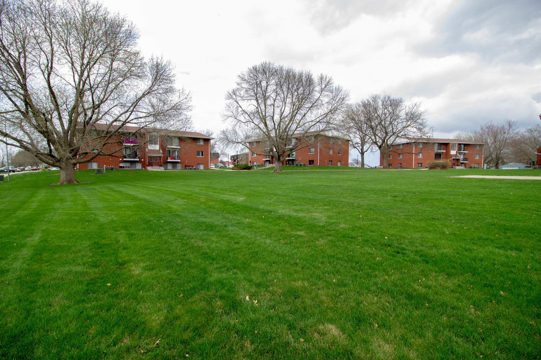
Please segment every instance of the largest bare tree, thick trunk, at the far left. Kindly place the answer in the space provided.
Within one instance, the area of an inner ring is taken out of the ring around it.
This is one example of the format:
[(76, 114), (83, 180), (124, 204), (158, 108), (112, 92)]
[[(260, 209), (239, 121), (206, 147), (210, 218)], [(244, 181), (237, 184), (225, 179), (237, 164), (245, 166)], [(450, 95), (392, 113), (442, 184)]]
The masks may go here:
[(0, 141), (60, 167), (59, 184), (110, 155), (124, 126), (191, 126), (171, 64), (145, 60), (135, 26), (100, 3), (2, 0), (0, 32)]

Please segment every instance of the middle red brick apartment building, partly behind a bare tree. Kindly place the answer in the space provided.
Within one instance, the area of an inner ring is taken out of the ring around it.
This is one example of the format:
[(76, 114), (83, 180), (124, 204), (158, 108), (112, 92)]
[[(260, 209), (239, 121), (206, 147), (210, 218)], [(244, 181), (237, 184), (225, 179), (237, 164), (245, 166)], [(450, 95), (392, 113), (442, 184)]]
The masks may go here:
[[(297, 138), (294, 141), (301, 140)], [(282, 165), (348, 166), (348, 139), (325, 134), (314, 134), (309, 136), (307, 140), (302, 141), (306, 141), (306, 144), (302, 144), (301, 148), (288, 154), (282, 161)], [(264, 141), (255, 140), (250, 142), (249, 145), (248, 163), (250, 165), (274, 164), (274, 159), (269, 149), (265, 148)]]

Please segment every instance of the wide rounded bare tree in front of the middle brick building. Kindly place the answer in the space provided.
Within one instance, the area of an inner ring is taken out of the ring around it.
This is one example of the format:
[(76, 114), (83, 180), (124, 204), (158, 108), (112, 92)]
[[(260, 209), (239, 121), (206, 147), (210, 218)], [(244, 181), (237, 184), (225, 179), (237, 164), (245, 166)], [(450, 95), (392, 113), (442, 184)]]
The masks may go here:
[(258, 140), (263, 146), (256, 153), (271, 153), (278, 172), (288, 154), (335, 128), (347, 99), (347, 91), (327, 75), (314, 77), (270, 62), (254, 65), (226, 94), (222, 117), (228, 127), (220, 140), (249, 151), (254, 151), (250, 142)]

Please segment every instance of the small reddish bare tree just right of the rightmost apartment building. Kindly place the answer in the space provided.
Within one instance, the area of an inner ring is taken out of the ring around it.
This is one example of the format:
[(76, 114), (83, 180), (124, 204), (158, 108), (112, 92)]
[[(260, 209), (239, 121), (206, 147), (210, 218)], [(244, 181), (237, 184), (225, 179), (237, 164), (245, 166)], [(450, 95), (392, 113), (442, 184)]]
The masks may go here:
[(517, 121), (505, 120), (503, 124), (493, 124), (492, 121), (481, 125), (473, 132), (476, 141), (484, 142), (485, 164), (499, 168), (504, 159), (509, 156), (513, 138), (518, 134)]

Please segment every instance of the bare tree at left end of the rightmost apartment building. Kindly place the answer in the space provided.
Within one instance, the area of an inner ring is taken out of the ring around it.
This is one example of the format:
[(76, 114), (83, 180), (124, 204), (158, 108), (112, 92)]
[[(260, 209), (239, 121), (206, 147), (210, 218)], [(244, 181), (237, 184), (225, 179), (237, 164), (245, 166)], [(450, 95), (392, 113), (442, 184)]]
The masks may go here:
[(374, 94), (362, 100), (360, 107), (360, 118), (368, 128), (371, 144), (381, 153), (384, 167), (395, 143), (423, 139), (430, 132), (419, 103), (406, 105), (402, 98)]

